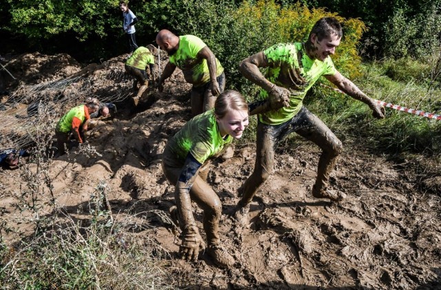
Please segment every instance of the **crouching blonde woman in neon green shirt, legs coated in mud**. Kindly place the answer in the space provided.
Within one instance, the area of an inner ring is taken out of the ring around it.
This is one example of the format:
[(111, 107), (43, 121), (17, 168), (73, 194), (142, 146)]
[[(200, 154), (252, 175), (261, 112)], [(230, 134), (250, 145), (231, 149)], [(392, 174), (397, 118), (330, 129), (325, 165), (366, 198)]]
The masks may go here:
[(243, 96), (233, 90), (218, 96), (214, 109), (188, 121), (170, 141), (163, 153), (163, 171), (176, 185), (176, 207), (182, 230), (182, 258), (196, 260), (205, 249), (193, 217), (192, 201), (204, 211), (203, 228), (207, 234), (207, 252), (219, 267), (234, 264), (234, 258), (220, 244), (218, 227), (222, 205), (217, 194), (206, 183), (208, 160), (220, 156), (233, 139), (242, 136), (248, 125), (248, 105)]

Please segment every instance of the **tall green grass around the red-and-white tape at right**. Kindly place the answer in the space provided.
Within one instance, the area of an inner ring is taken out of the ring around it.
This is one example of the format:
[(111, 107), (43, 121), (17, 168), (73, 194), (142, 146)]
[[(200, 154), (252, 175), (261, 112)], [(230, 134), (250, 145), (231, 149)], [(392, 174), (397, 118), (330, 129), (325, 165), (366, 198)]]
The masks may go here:
[[(441, 114), (441, 90), (429, 87), (427, 63), (389, 59), (362, 68), (364, 76), (354, 82), (371, 98)], [(385, 108), (386, 118), (376, 120), (367, 105), (320, 86), (305, 103), (347, 142), (361, 141), (389, 154), (441, 154), (441, 121), (389, 108)]]

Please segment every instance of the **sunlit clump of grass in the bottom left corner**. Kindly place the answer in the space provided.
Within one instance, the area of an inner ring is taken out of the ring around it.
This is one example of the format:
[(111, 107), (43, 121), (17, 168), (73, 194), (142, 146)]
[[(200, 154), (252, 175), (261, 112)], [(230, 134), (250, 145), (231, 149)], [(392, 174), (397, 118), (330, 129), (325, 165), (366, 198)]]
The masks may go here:
[(100, 184), (83, 218), (54, 209), (46, 227), (17, 244), (0, 236), (1, 289), (174, 289), (158, 262), (168, 253), (116, 221), (103, 192)]

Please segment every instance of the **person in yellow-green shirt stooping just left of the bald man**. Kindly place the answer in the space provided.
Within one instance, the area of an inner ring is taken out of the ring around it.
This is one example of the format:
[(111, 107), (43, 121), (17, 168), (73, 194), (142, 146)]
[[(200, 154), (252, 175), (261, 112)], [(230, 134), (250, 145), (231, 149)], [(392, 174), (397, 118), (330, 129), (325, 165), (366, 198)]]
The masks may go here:
[(133, 87), (136, 88), (138, 83), (140, 83), (141, 87), (139, 87), (138, 93), (136, 96), (132, 98), (134, 105), (138, 105), (141, 96), (147, 87), (149, 86), (149, 76), (147, 76), (147, 65), (150, 68), (150, 74), (152, 74), (152, 79), (155, 81), (155, 72), (154, 72), (154, 55), (148, 48), (140, 46), (136, 48), (133, 52), (132, 56), (127, 59), (125, 62), (125, 71), (128, 74), (134, 76), (135, 81), (133, 83)]

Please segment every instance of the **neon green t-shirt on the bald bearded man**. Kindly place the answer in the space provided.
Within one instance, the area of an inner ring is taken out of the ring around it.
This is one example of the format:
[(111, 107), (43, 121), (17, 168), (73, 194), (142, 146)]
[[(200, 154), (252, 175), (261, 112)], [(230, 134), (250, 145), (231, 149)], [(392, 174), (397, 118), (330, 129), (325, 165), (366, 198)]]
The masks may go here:
[[(179, 37), (179, 48), (170, 56), (170, 63), (180, 68), (185, 81), (192, 83), (194, 87), (200, 87), (208, 83), (209, 70), (207, 60), (198, 57), (198, 52), (207, 46), (202, 39), (194, 35)], [(216, 77), (223, 73), (223, 67), (216, 58)]]

